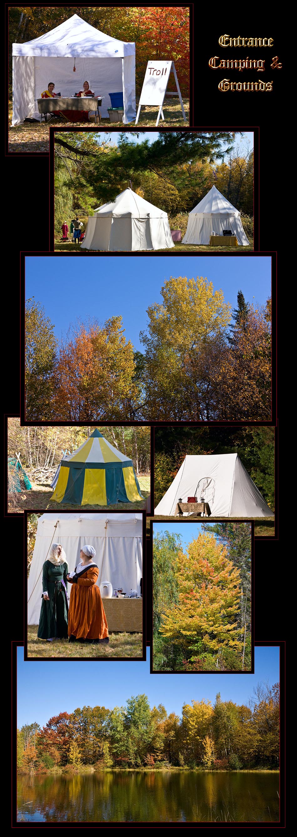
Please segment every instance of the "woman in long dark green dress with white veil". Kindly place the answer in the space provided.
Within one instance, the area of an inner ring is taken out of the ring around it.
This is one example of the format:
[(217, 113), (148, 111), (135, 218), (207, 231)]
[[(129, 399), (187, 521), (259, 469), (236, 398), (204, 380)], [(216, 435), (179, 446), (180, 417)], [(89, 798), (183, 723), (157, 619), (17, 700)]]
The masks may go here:
[(68, 563), (60, 543), (53, 543), (43, 564), (43, 594), (38, 639), (68, 639)]

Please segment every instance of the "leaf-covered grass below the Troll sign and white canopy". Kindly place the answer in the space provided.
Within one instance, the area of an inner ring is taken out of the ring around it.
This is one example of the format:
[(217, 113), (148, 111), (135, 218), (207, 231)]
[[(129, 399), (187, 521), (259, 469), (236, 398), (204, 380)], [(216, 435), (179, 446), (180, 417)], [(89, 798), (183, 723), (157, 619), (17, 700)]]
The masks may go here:
[[(139, 94), (140, 95), (140, 94)], [(138, 97), (136, 97), (136, 103), (138, 106)], [(173, 101), (173, 97), (170, 96), (168, 100), (165, 100), (164, 104), (164, 121), (160, 119), (158, 130), (161, 128), (174, 128), (174, 127), (183, 127), (189, 126), (189, 99), (184, 99), (184, 112), (187, 118), (187, 121), (184, 122), (184, 116), (182, 114), (181, 107), (179, 105), (179, 99)], [(138, 119), (138, 124), (136, 126), (137, 130), (139, 128), (147, 128), (147, 127), (155, 127), (156, 121), (158, 116), (158, 108), (142, 108), (140, 111), (140, 116)], [(48, 141), (48, 131), (49, 127), (60, 127), (60, 126), (67, 126), (69, 128), (73, 128), (73, 122), (64, 122), (64, 120), (55, 120), (54, 122), (26, 122), (23, 125), (16, 125), (12, 126), (12, 117), (13, 117), (13, 102), (9, 102), (9, 111), (8, 111), (8, 152), (12, 154), (48, 154), (49, 149), (49, 141)], [(78, 127), (78, 131), (81, 131), (82, 126), (88, 124), (89, 126), (93, 127), (93, 123), (82, 123), (77, 122), (76, 125)], [(98, 131), (100, 128), (103, 128), (105, 131), (108, 128), (121, 128), (122, 131), (126, 131), (128, 128), (132, 128), (134, 130), (134, 122), (130, 122), (129, 126), (123, 126), (123, 122), (110, 122), (108, 119), (103, 119), (99, 125), (94, 126), (95, 130)]]

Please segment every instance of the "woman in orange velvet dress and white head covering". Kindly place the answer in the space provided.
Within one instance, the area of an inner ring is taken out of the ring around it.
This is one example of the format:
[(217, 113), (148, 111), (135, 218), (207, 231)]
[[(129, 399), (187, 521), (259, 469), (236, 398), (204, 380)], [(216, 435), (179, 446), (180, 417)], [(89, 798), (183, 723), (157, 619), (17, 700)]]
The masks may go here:
[(68, 573), (68, 582), (73, 585), (68, 613), (69, 642), (109, 642), (108, 623), (96, 584), (99, 571), (93, 560), (95, 555), (94, 548), (86, 545), (80, 551), (80, 562), (74, 573)]

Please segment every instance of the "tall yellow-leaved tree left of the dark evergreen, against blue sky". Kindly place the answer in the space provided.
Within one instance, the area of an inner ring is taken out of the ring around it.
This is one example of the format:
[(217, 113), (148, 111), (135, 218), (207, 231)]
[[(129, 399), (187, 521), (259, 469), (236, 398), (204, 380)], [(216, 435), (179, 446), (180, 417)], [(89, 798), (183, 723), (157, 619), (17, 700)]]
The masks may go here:
[(204, 419), (200, 392), (194, 408), (189, 392), (195, 367), (230, 320), (229, 303), (203, 277), (171, 277), (161, 289), (163, 302), (148, 307), (148, 329), (140, 332), (146, 349), (145, 387), (150, 418)]

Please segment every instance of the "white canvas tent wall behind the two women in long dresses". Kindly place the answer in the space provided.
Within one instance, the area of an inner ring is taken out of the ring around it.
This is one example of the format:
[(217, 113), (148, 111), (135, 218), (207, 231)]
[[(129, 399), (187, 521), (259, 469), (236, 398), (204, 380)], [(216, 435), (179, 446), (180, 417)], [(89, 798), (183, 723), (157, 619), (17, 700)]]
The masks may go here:
[(86, 543), (96, 549), (99, 568), (98, 587), (103, 581), (113, 588), (140, 593), (143, 575), (143, 516), (141, 514), (44, 514), (39, 517), (37, 535), (28, 578), (28, 624), (38, 624), (42, 602), (43, 563), (52, 543), (61, 543), (69, 572), (79, 562)]

